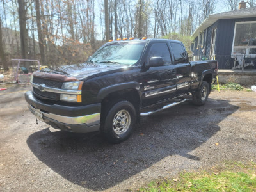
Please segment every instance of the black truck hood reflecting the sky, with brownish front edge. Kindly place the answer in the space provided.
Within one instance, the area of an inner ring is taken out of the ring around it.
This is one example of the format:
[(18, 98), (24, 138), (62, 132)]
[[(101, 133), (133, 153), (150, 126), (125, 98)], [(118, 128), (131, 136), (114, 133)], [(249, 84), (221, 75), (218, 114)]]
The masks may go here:
[(120, 65), (120, 64), (112, 64), (112, 63), (93, 63), (88, 61), (86, 63), (80, 63), (80, 64), (74, 64), (74, 65), (45, 68), (44, 70), (40, 70), (35, 74), (36, 76), (41, 76), (43, 78), (54, 76), (54, 74), (56, 74), (56, 76), (68, 77), (68, 79), (72, 77), (72, 79), (82, 80), (82, 79), (91, 79), (93, 77), (102, 76), (102, 75), (110, 74), (114, 72), (120, 72), (122, 70), (131, 70), (132, 68), (134, 68), (134, 66), (132, 65)]

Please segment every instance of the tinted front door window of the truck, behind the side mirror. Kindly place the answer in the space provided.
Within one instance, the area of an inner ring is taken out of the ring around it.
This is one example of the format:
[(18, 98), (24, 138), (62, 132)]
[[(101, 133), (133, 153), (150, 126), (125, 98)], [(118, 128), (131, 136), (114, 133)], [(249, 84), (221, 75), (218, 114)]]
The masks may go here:
[(170, 65), (172, 63), (170, 51), (166, 43), (153, 44), (148, 54), (148, 60), (152, 57), (162, 57), (164, 59), (164, 65)]

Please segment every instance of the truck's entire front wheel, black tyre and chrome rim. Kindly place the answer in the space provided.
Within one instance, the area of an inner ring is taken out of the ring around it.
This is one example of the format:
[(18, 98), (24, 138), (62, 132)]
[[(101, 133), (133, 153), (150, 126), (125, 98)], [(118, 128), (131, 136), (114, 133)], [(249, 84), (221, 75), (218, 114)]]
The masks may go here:
[(131, 102), (116, 102), (104, 116), (101, 131), (109, 143), (121, 143), (129, 138), (136, 123), (136, 109)]

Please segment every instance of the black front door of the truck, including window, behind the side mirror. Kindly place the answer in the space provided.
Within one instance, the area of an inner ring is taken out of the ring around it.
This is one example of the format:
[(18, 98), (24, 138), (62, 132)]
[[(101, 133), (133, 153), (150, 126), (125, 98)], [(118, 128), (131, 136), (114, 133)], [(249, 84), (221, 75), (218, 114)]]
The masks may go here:
[(167, 42), (162, 40), (149, 44), (145, 57), (146, 62), (152, 57), (162, 57), (164, 65), (150, 68), (145, 67), (145, 71), (142, 74), (143, 106), (156, 104), (162, 100), (174, 97), (176, 93), (175, 66), (172, 65), (170, 48)]

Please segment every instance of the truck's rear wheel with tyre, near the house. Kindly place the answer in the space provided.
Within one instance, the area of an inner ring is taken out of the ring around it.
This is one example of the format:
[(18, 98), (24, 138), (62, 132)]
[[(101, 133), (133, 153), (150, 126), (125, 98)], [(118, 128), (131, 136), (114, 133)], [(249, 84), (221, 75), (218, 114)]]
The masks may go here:
[(209, 92), (209, 83), (203, 81), (199, 90), (197, 92), (192, 93), (193, 103), (197, 106), (204, 105), (208, 99)]

